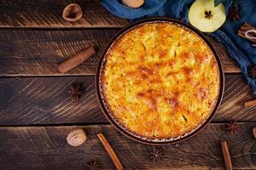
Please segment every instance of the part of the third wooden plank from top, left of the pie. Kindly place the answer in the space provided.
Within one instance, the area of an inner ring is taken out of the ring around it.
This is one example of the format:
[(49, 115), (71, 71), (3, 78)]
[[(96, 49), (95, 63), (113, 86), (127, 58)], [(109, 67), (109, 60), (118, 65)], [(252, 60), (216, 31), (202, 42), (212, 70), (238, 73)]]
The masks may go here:
[[(69, 98), (72, 83), (84, 91), (78, 102)], [(1, 78), (0, 96), (0, 125), (107, 122), (94, 77)]]

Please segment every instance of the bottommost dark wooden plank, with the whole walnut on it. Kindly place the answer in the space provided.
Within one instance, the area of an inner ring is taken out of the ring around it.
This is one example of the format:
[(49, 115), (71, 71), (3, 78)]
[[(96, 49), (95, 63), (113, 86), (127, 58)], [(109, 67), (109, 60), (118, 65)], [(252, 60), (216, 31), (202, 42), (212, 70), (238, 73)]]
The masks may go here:
[[(66, 142), (74, 127), (0, 127), (0, 168), (79, 170), (96, 160), (100, 169), (115, 169), (96, 138), (104, 133), (125, 169), (224, 169), (222, 140), (228, 141), (234, 169), (256, 169), (254, 126), (255, 122), (240, 123), (241, 130), (230, 134), (224, 123), (214, 123), (189, 140), (164, 147), (133, 142), (110, 125), (82, 127), (88, 138), (79, 147)], [(153, 149), (162, 153), (160, 161), (152, 161)]]

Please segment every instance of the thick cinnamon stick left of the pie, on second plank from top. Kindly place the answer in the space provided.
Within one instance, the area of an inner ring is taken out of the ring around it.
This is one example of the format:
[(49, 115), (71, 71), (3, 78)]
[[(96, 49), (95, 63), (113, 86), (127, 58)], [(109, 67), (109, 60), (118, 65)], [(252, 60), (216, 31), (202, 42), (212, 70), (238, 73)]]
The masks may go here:
[(80, 53), (73, 55), (73, 57), (70, 57), (69, 59), (65, 60), (63, 63), (58, 65), (58, 70), (61, 71), (61, 73), (70, 71), (74, 67), (83, 63), (86, 59), (89, 59), (90, 56), (94, 54), (96, 54), (95, 48), (87, 48), (84, 51), (81, 51)]

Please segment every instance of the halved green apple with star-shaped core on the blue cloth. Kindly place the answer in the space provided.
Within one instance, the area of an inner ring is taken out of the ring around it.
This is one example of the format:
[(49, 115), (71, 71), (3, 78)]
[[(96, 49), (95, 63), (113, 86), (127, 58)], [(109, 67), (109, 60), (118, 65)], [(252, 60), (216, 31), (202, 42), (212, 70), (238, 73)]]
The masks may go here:
[(218, 30), (226, 20), (223, 3), (214, 6), (214, 0), (195, 0), (189, 8), (189, 22), (198, 30), (213, 32)]

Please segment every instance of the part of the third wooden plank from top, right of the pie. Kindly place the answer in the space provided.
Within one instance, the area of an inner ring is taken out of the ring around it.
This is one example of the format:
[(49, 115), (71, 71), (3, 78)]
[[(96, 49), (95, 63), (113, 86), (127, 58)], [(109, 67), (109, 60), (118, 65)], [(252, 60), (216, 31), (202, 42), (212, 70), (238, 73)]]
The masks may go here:
[(214, 121), (256, 121), (256, 107), (245, 107), (253, 91), (242, 75), (225, 75), (224, 98)]

